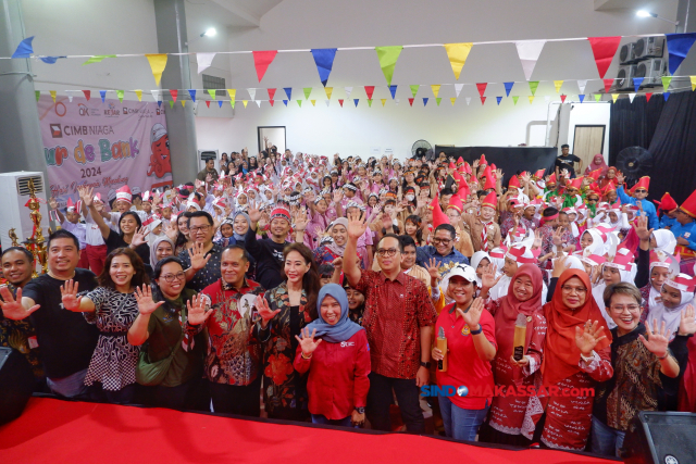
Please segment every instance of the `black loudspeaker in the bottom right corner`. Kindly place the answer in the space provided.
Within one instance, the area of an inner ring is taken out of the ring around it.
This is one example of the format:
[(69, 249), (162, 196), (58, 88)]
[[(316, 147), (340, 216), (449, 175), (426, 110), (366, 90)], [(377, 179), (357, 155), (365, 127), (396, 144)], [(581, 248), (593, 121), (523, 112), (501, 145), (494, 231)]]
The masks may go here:
[(631, 421), (622, 457), (629, 464), (696, 462), (696, 414), (642, 411)]

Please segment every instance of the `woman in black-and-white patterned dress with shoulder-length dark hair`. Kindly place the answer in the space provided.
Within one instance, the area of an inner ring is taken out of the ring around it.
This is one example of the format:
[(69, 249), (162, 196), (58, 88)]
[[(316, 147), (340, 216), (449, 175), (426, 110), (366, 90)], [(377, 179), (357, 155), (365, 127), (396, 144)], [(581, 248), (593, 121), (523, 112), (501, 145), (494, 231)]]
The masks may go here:
[(85, 385), (90, 397), (109, 403), (129, 403), (135, 394), (137, 347), (128, 343), (130, 325), (138, 315), (134, 290), (150, 284), (142, 260), (129, 248), (117, 248), (107, 255), (99, 275), (99, 287), (78, 297), (77, 283), (61, 288), (63, 308), (82, 312), (99, 329), (97, 348), (89, 362)]

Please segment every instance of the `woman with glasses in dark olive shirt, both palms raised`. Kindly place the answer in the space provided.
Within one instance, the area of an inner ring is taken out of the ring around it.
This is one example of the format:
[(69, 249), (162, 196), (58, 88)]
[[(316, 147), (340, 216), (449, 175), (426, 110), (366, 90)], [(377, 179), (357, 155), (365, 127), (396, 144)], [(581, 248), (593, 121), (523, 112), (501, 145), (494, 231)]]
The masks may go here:
[(166, 374), (161, 381), (148, 385), (154, 386), (154, 405), (184, 410), (191, 404), (188, 397), (203, 372), (204, 347), (202, 336), (187, 335), (186, 322), (190, 316), (196, 317), (196, 324), (201, 324), (210, 312), (206, 313), (202, 298), (185, 288), (186, 273), (178, 258), (169, 256), (158, 262), (153, 276), (152, 287), (136, 289), (139, 314), (128, 330), (128, 342), (139, 347), (147, 341), (142, 350), (148, 363), (171, 358), (171, 362), (164, 364)]

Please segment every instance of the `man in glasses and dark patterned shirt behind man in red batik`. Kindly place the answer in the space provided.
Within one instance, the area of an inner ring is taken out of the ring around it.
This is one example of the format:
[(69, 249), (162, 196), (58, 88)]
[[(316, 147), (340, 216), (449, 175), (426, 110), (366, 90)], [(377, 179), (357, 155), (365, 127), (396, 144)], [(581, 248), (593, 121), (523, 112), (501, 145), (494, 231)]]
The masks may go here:
[(222, 247), (213, 243), (213, 217), (204, 211), (195, 211), (188, 218), (188, 230), (194, 247), (184, 250), (178, 258), (186, 267), (186, 286), (201, 291), (221, 277)]

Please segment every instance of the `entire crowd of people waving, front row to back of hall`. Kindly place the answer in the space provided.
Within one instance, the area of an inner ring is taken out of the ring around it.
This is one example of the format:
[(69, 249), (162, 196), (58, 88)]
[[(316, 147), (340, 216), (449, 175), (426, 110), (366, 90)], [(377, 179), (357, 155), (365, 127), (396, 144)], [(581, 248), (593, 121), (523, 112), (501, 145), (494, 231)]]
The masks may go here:
[(47, 274), (3, 250), (0, 343), (67, 398), (412, 432), (427, 405), (455, 439), (619, 455), (638, 411), (696, 411), (696, 192), (561, 156), (504, 181), (269, 145), (111, 208), (78, 187)]

